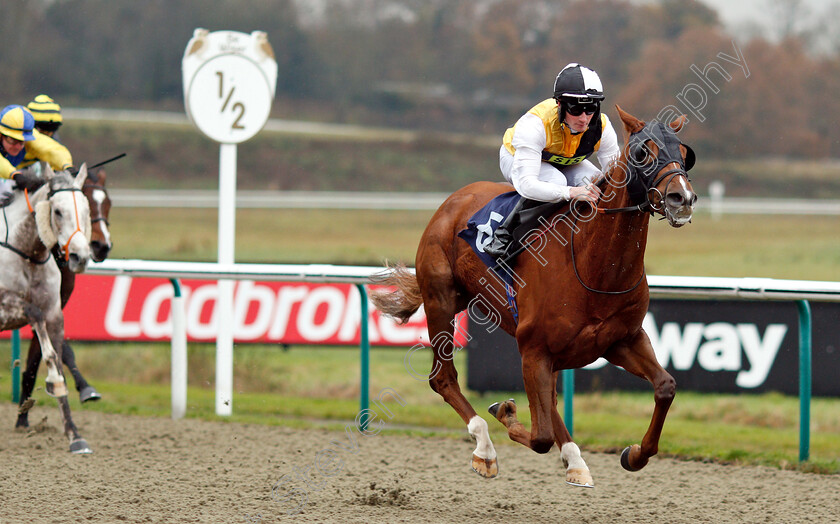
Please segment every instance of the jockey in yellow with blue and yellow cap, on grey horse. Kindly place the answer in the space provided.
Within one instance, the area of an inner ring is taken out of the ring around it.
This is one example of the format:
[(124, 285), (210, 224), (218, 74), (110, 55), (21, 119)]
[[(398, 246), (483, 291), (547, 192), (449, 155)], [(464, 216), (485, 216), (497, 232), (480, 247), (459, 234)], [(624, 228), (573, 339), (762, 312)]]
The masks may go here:
[(23, 169), (37, 161), (48, 162), (63, 171), (73, 167), (73, 157), (66, 147), (35, 130), (35, 118), (23, 106), (9, 105), (0, 111), (0, 199), (11, 194), (14, 181), (20, 189), (34, 190), (44, 180), (35, 172)]

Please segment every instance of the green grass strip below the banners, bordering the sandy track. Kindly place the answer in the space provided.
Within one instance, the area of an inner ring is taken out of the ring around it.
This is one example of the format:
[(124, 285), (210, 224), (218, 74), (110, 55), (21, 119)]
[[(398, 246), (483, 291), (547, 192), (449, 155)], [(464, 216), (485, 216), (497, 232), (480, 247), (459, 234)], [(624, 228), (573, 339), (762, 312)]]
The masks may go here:
[[(74, 344), (77, 361), (104, 399), (73, 409), (141, 416), (170, 416), (169, 351), (167, 344)], [(359, 412), (358, 348), (237, 345), (234, 352), (233, 415), (215, 415), (215, 346), (189, 348), (187, 416), (207, 420), (339, 429)], [(127, 353), (130, 352), (130, 358)], [(412, 435), (465, 436), (464, 424), (426, 382), (412, 378), (404, 367), (405, 350), (371, 351), (370, 396), (385, 388), (400, 395), (404, 405), (388, 402), (393, 418), (378, 412), (387, 431)], [(0, 361), (8, 361), (8, 349)], [(455, 357), (466, 368), (465, 354)], [(418, 352), (412, 364), (430, 366), (430, 353)], [(43, 373), (43, 371), (42, 371)], [(0, 377), (0, 399), (9, 399), (8, 375)], [(42, 383), (40, 379), (39, 383)], [(501, 424), (490, 419), (491, 403), (514, 398), (519, 417), (530, 424), (527, 399), (521, 392), (481, 395), (466, 390), (467, 399), (490, 422), (497, 445), (515, 445)], [(42, 390), (35, 398), (50, 416), (54, 401)], [(618, 452), (638, 443), (653, 410), (653, 393), (602, 392), (575, 396), (576, 441), (590, 451)], [(561, 407), (562, 409), (562, 407)], [(815, 398), (811, 406), (810, 461), (798, 463), (799, 401), (780, 394), (710, 395), (677, 393), (660, 444), (660, 454), (686, 460), (763, 464), (819, 473), (840, 473), (840, 399)]]

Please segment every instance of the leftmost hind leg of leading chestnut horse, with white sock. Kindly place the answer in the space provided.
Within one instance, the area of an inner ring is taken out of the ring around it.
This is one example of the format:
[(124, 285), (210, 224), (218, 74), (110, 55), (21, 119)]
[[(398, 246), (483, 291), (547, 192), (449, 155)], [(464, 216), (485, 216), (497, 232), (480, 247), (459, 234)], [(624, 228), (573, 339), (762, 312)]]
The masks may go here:
[[(444, 283), (441, 283), (442, 281)], [(429, 385), (461, 416), (470, 435), (475, 438), (476, 448), (471, 461), (473, 471), (482, 477), (493, 478), (499, 474), (499, 465), (496, 449), (490, 440), (487, 421), (476, 414), (475, 409), (461, 393), (458, 371), (453, 362), (456, 352), (453, 322), (458, 310), (457, 294), (454, 290), (454, 282), (450, 277), (437, 279), (437, 282), (427, 286), (423, 293), (426, 322), (434, 353)]]

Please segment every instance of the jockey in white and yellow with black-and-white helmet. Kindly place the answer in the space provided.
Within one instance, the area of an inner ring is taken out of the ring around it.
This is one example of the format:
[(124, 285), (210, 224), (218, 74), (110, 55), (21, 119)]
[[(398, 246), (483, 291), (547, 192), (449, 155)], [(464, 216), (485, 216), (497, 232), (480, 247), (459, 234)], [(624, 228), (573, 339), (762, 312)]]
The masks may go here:
[[(523, 198), (485, 252), (498, 257), (508, 250), (523, 209), (545, 202), (598, 200), (601, 192), (592, 183), (619, 154), (618, 136), (601, 113), (603, 99), (598, 73), (571, 63), (554, 80), (554, 98), (532, 107), (505, 132), (499, 166)], [(601, 169), (587, 160), (595, 152)]]

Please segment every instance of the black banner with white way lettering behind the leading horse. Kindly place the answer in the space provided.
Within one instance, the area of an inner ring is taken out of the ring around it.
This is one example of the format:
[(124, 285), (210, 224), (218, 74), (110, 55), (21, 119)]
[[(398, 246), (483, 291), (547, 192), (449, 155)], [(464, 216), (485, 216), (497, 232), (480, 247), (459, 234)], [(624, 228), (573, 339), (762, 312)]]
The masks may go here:
[[(840, 304), (811, 303), (812, 391), (840, 396)], [(799, 391), (799, 317), (792, 302), (652, 300), (643, 327), (677, 391)], [(522, 391), (516, 342), (470, 330), (467, 386)], [(575, 372), (576, 391), (650, 391), (651, 385), (600, 359)]]

